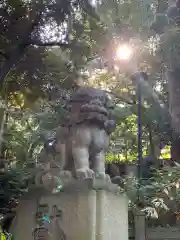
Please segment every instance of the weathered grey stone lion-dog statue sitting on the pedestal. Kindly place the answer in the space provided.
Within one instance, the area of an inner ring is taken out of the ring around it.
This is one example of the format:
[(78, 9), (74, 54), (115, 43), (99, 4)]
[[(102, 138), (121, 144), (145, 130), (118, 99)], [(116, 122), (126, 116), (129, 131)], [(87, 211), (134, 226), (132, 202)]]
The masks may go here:
[(61, 173), (71, 173), (78, 179), (106, 178), (105, 152), (115, 128), (112, 107), (105, 91), (78, 89), (67, 102), (53, 145), (56, 154), (49, 154), (46, 168), (50, 169), (48, 164), (54, 159)]

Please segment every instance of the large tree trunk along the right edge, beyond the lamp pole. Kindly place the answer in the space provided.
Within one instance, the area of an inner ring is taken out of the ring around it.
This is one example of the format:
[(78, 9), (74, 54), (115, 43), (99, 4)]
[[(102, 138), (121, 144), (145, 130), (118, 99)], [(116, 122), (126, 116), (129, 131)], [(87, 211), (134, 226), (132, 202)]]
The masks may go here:
[[(180, 2), (176, 3), (169, 1), (160, 1), (158, 10), (161, 12), (161, 19), (156, 19), (156, 24), (153, 28), (161, 34), (161, 49), (162, 58), (165, 63), (166, 78), (169, 89), (169, 108), (171, 114), (171, 128), (173, 129), (172, 136), (172, 159), (180, 161), (179, 151), (179, 15), (178, 8)], [(167, 9), (168, 8), (168, 9)], [(165, 11), (167, 10), (167, 18), (165, 17)], [(162, 23), (162, 24), (161, 24)], [(158, 26), (161, 26), (158, 27)]]

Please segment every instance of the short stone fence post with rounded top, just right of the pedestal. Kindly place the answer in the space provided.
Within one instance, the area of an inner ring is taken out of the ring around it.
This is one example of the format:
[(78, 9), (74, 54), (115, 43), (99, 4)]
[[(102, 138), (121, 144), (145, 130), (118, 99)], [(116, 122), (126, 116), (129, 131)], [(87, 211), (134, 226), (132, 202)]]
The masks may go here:
[(135, 240), (146, 240), (145, 214), (140, 210), (134, 213)]

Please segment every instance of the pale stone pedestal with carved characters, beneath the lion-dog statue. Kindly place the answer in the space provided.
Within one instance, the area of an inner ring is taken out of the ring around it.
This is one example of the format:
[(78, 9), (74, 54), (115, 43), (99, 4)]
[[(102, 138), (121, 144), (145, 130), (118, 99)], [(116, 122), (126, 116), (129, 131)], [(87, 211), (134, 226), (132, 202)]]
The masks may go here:
[(40, 189), (32, 192), (20, 202), (11, 229), (15, 240), (34, 238), (38, 208), (50, 222), (44, 225), (48, 234), (36, 239), (128, 240), (128, 201), (116, 185), (74, 180), (57, 194)]

